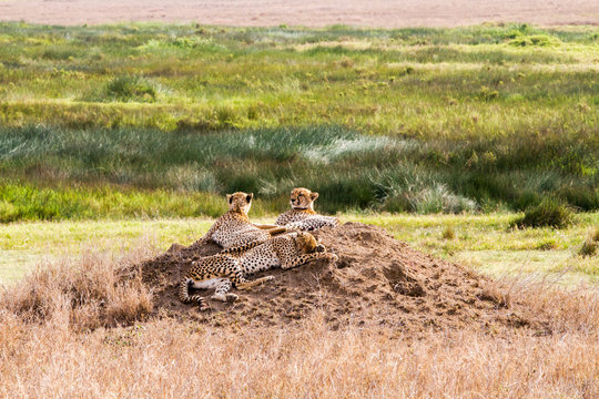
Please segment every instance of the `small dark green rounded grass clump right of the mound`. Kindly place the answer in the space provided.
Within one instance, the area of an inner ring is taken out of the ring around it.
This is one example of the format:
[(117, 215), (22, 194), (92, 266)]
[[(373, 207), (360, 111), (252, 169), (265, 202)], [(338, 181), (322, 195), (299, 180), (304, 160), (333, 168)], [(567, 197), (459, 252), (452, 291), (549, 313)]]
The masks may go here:
[(514, 222), (518, 227), (565, 228), (573, 223), (572, 211), (561, 202), (545, 198), (540, 204), (530, 206), (525, 215)]

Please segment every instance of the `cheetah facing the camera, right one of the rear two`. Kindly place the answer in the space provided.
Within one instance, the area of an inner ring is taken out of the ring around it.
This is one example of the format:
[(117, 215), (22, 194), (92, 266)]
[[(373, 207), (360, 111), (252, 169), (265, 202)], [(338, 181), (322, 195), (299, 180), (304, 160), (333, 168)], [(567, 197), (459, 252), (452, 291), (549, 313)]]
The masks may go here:
[(339, 224), (338, 218), (318, 215), (314, 212), (314, 201), (317, 197), (318, 193), (313, 193), (307, 188), (293, 188), (291, 211), (278, 216), (275, 224), (302, 231), (316, 231), (325, 226), (337, 226)]

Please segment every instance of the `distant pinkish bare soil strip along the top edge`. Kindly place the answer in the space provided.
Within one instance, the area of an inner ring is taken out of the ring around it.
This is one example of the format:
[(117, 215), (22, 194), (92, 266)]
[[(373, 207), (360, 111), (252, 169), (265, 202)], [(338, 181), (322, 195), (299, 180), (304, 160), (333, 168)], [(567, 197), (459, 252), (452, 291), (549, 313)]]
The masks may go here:
[(599, 24), (597, 0), (0, 0), (0, 21), (100, 24), (199, 22), (241, 27), (457, 27), (490, 21)]

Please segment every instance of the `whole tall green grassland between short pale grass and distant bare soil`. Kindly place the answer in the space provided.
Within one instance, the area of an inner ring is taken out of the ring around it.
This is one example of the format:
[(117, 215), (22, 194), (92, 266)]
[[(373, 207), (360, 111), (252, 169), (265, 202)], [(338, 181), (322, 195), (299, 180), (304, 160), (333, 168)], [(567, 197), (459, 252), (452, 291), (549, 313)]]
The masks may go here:
[(599, 29), (0, 23), (0, 222), (599, 209)]

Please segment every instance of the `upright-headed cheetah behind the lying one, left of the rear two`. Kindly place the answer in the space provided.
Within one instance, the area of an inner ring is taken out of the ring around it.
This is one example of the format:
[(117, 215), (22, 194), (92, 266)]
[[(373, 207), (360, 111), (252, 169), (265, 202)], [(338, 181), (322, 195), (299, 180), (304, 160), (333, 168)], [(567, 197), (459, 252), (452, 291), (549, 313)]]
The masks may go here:
[(281, 226), (253, 225), (250, 223), (247, 213), (252, 206), (254, 194), (234, 193), (227, 194), (229, 212), (219, 217), (210, 231), (201, 238), (201, 242), (213, 241), (223, 248), (240, 246), (252, 242), (264, 243), (272, 235), (285, 233), (287, 229)]

